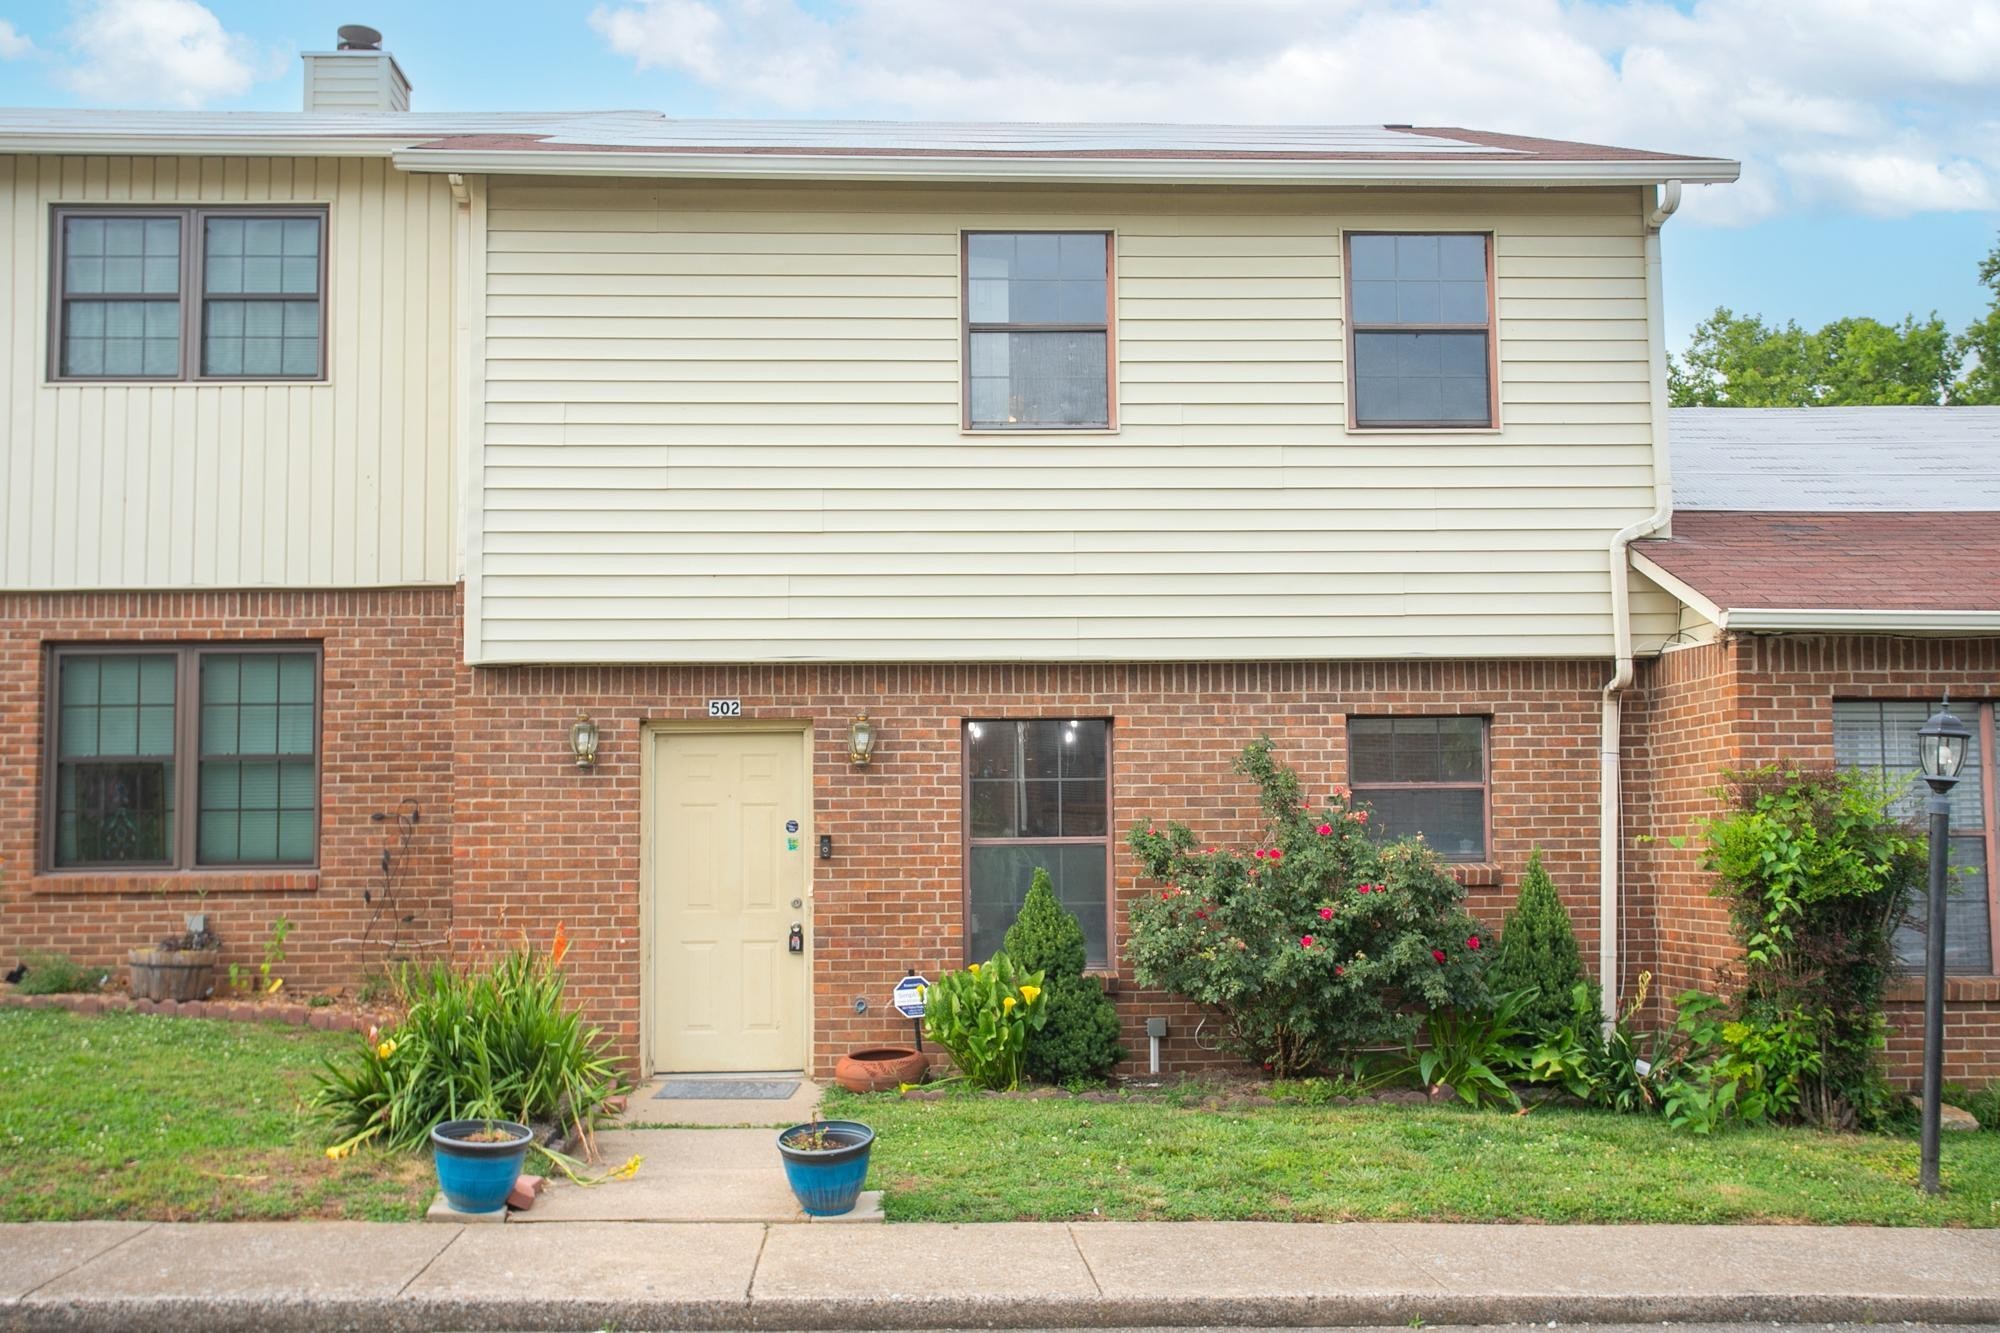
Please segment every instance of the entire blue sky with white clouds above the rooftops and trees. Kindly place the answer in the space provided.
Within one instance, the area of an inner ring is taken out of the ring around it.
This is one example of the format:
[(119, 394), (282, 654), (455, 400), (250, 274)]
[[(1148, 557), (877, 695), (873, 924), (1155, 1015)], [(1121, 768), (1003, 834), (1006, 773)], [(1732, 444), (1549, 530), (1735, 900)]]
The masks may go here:
[(1666, 228), (1668, 336), (1728, 304), (1984, 308), (2000, 0), (0, 0), (0, 104), (292, 110), (388, 36), (430, 110), (1416, 122), (1724, 154)]

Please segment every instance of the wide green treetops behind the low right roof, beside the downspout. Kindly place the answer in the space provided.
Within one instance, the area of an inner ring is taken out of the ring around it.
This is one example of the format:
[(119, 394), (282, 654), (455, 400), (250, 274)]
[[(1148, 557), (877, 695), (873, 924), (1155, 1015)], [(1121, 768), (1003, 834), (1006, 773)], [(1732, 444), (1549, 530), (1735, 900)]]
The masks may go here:
[(1668, 356), (1674, 406), (1870, 406), (1952, 402), (1964, 358), (1934, 312), (1884, 324), (1840, 318), (1808, 332), (1718, 306), (1686, 356)]

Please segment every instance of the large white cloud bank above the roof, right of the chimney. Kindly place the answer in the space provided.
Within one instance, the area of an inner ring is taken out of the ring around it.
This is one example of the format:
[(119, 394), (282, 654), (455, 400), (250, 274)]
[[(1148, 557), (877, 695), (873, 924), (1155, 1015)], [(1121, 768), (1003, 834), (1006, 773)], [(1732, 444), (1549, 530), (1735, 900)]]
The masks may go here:
[(730, 114), (1460, 124), (1734, 156), (1688, 212), (2000, 200), (2000, 0), (612, 0)]

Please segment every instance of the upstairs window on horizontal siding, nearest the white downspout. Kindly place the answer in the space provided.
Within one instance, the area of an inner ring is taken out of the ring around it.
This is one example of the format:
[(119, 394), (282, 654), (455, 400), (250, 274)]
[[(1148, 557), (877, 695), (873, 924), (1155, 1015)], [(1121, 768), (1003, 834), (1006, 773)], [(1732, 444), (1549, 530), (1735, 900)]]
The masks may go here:
[(1494, 424), (1492, 236), (1352, 232), (1350, 424)]

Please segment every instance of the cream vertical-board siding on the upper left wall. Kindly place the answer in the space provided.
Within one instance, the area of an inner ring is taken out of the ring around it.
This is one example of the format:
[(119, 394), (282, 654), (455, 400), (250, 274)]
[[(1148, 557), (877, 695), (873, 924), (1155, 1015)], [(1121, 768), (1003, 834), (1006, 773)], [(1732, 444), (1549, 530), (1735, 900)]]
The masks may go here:
[[(326, 204), (326, 382), (54, 384), (54, 204)], [(0, 586), (458, 576), (452, 194), (338, 158), (0, 156)]]

